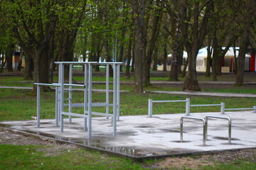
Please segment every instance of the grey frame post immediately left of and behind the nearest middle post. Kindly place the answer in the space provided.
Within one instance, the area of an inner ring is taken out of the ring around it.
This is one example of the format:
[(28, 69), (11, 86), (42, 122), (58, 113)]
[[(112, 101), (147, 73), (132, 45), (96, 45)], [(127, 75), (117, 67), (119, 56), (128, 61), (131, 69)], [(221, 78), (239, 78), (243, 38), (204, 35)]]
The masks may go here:
[[(84, 115), (88, 106), (88, 64), (85, 64), (85, 91), (84, 91)], [(84, 130), (87, 130), (87, 118), (84, 118)]]

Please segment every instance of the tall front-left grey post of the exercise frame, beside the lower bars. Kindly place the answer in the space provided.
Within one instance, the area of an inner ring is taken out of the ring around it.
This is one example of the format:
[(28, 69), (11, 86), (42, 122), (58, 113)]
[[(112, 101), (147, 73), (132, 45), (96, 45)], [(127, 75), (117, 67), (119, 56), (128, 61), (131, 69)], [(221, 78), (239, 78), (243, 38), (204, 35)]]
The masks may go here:
[(63, 63), (59, 64), (60, 67), (60, 132), (63, 132), (64, 115), (62, 114), (64, 109), (64, 69)]

